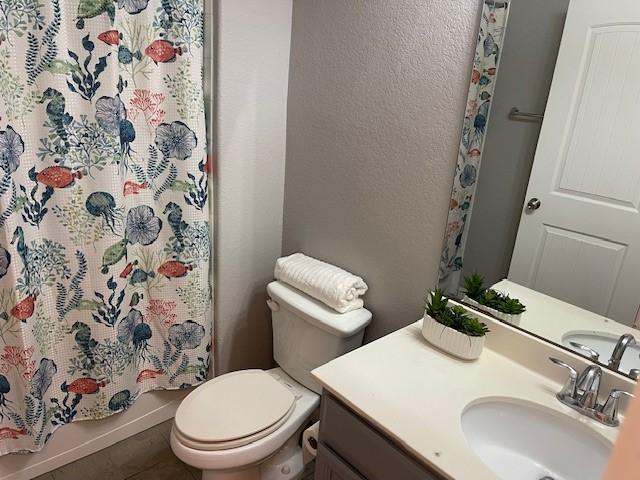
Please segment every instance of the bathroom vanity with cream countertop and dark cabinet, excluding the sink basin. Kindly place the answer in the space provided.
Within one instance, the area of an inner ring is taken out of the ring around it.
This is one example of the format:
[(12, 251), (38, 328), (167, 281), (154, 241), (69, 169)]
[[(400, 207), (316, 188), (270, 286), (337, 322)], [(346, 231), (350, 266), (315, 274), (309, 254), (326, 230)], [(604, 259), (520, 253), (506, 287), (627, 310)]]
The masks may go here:
[[(419, 321), (314, 370), (316, 479), (598, 480), (618, 428), (558, 401), (567, 376), (548, 357), (578, 371), (589, 362), (482, 319), (492, 333), (477, 361), (431, 347)], [(614, 388), (633, 381), (603, 370), (602, 401)]]

